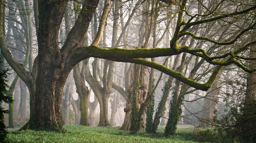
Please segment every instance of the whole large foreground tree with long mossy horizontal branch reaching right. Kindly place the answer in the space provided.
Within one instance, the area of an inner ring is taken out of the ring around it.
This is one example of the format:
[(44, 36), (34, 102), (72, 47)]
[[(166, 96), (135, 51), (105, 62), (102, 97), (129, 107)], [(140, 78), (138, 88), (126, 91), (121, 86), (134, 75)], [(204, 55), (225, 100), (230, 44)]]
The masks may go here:
[[(247, 72), (253, 72), (256, 70), (255, 68), (246, 68), (234, 59), (234, 57), (236, 57), (238, 59), (246, 60), (246, 57), (239, 56), (238, 54), (241, 53), (241, 51), (246, 50), (246, 48), (251, 44), (254, 44), (255, 41), (247, 42), (247, 44), (238, 50), (232, 52), (228, 51), (220, 56), (210, 56), (202, 48), (192, 49), (185, 45), (179, 45), (178, 43), (178, 40), (181, 37), (188, 35), (194, 39), (205, 40), (217, 45), (231, 45), (236, 42), (237, 39), (240, 38), (245, 32), (253, 29), (255, 22), (250, 21), (250, 26), (245, 27), (244, 30), (241, 30), (241, 32), (239, 32), (233, 40), (228, 42), (218, 42), (210, 38), (198, 37), (187, 31), (192, 26), (198, 24), (209, 23), (211, 21), (222, 20), (248, 13), (256, 8), (254, 5), (248, 5), (243, 9), (238, 6), (239, 11), (237, 10), (233, 12), (215, 14), (214, 12), (210, 11), (208, 15), (211, 15), (212, 17), (208, 18), (203, 15), (201, 17), (205, 18), (198, 21), (193, 21), (195, 16), (189, 15), (191, 18), (185, 22), (183, 21), (183, 15), (187, 12), (185, 11), (187, 1), (183, 0), (182, 4), (178, 3), (180, 6), (180, 11), (174, 36), (170, 41), (170, 48), (104, 49), (97, 47), (97, 45), (105, 27), (108, 8), (103, 10), (104, 14), (102, 14), (99, 29), (92, 44), (88, 47), (82, 46), (85, 33), (89, 27), (90, 21), (93, 18), (93, 13), (99, 3), (99, 0), (85, 0), (81, 3), (82, 9), (79, 9), (79, 18), (70, 30), (63, 46), (61, 48), (59, 47), (58, 33), (67, 3), (68, 1), (63, 0), (38, 2), (34, 0), (34, 17), (36, 21), (35, 26), (37, 31), (38, 56), (35, 58), (34, 67), (30, 72), (26, 71), (24, 67), (13, 59), (6, 46), (3, 26), (0, 27), (1, 54), (3, 53), (3, 56), (11, 68), (14, 69), (17, 75), (19, 75), (19, 77), (26, 83), (31, 97), (31, 115), (28, 123), (23, 126), (23, 129), (51, 129), (62, 131), (63, 121), (61, 116), (61, 99), (66, 78), (68, 77), (71, 69), (77, 63), (89, 57), (119, 62), (131, 62), (149, 66), (177, 78), (179, 81), (188, 84), (191, 87), (204, 91), (211, 87), (214, 79), (218, 75), (218, 72), (222, 69), (222, 66), (235, 64)], [(106, 3), (109, 4), (110, 0), (106, 0), (105, 4)], [(3, 7), (4, 4), (5, 1), (1, 0), (1, 7)], [(3, 24), (5, 17), (4, 10), (2, 8), (0, 10), (0, 23)], [(151, 62), (146, 59), (138, 59), (159, 56), (173, 56), (180, 53), (189, 53), (194, 56), (199, 56), (205, 59), (208, 63), (218, 66), (214, 68), (213, 72), (211, 72), (211, 75), (206, 83), (199, 83), (156, 62)], [(222, 60), (219, 61), (216, 59)], [(110, 63), (111, 62), (109, 61), (109, 65), (111, 65)], [(106, 80), (106, 83), (111, 83), (112, 81), (113, 80)], [(138, 79), (136, 81), (138, 81)]]

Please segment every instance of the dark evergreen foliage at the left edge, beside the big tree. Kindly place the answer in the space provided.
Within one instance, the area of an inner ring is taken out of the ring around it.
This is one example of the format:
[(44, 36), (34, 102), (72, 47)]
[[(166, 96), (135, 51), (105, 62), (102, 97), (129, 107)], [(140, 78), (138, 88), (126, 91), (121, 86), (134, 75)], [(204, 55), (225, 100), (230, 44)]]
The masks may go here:
[[(7, 84), (5, 80), (6, 78), (6, 71), (0, 71), (0, 105), (2, 104), (2, 102), (12, 102), (12, 97), (5, 95), (5, 92), (7, 91)], [(3, 108), (0, 106), (0, 140), (4, 140), (7, 134), (5, 130), (6, 126), (4, 123), (4, 113), (7, 113), (7, 110), (3, 110)]]

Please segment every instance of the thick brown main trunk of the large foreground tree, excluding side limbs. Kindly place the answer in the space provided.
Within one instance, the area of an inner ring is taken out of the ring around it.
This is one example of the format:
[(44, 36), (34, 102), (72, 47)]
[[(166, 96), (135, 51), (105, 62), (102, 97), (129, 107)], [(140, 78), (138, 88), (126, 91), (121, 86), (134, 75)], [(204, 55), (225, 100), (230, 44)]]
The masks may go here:
[[(54, 2), (52, 2), (54, 3)], [(67, 1), (61, 4), (39, 1), (38, 67), (33, 110), (26, 129), (61, 131), (61, 99), (66, 78), (71, 71), (63, 72), (62, 55), (58, 39), (59, 27)], [(53, 21), (53, 19), (55, 19)], [(56, 27), (57, 26), (57, 27)], [(63, 78), (63, 79), (60, 79)], [(43, 89), (43, 90), (42, 90)]]

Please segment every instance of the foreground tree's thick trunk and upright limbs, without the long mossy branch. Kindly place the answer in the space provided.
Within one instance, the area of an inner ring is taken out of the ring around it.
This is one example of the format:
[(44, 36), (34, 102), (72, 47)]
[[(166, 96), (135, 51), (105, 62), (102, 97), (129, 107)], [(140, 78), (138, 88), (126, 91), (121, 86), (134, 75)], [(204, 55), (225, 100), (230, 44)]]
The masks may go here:
[[(3, 29), (1, 27), (1, 45), (3, 45), (1, 50), (5, 50), (5, 58), (8, 57), (12, 68), (25, 81), (31, 95), (31, 116), (28, 123), (22, 129), (63, 131), (61, 115), (63, 87), (72, 67), (79, 62), (79, 60), (71, 58), (74, 55), (70, 56), (70, 53), (72, 53), (71, 51), (74, 48), (81, 46), (89, 26), (89, 21), (91, 21), (92, 13), (95, 11), (98, 2), (98, 0), (86, 0), (83, 3), (83, 10), (80, 13), (83, 18), (81, 18), (81, 21), (77, 21), (71, 32), (69, 32), (62, 49), (60, 49), (57, 39), (60, 23), (62, 22), (68, 1), (54, 1), (51, 3), (39, 1), (38, 5), (35, 5), (35, 7), (38, 6), (39, 14), (39, 25), (36, 26), (38, 56), (36, 58), (37, 64), (35, 64), (36, 69), (32, 73), (29, 73), (25, 70), (25, 67), (19, 65), (12, 58), (9, 51), (6, 50), (6, 43), (2, 39)], [(85, 12), (85, 9), (88, 11)], [(2, 16), (1, 14), (1, 22), (3, 20)], [(37, 21), (37, 15), (35, 16)]]

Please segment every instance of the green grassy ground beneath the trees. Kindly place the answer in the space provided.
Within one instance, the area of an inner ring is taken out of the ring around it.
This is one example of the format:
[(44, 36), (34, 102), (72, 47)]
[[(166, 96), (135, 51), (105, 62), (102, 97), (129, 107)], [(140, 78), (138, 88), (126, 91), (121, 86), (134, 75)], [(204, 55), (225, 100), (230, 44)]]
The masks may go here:
[[(176, 135), (164, 137), (164, 127), (157, 134), (144, 131), (129, 135), (118, 127), (87, 127), (65, 125), (66, 133), (46, 131), (9, 131), (7, 143), (196, 143), (193, 141), (193, 127), (179, 126)], [(1, 142), (1, 141), (0, 141)]]

